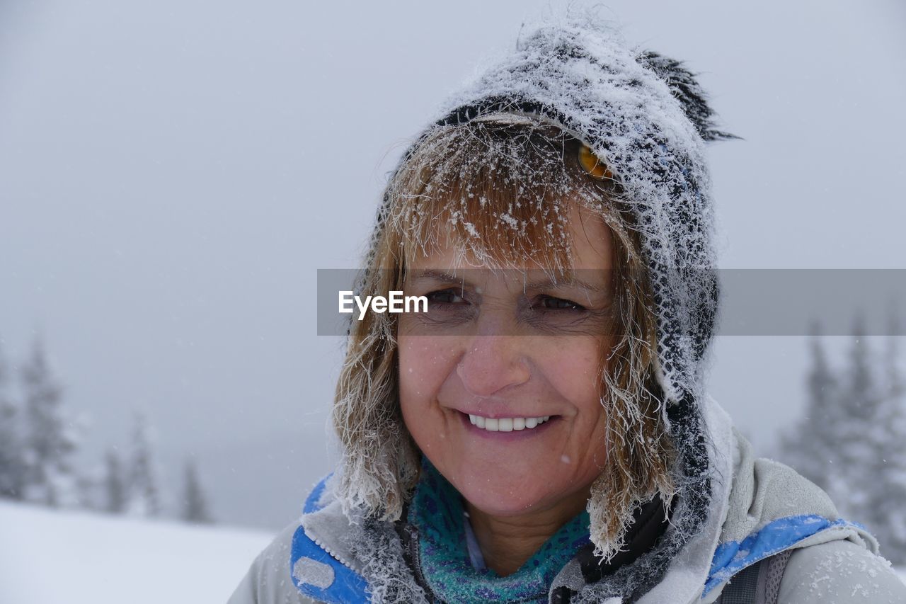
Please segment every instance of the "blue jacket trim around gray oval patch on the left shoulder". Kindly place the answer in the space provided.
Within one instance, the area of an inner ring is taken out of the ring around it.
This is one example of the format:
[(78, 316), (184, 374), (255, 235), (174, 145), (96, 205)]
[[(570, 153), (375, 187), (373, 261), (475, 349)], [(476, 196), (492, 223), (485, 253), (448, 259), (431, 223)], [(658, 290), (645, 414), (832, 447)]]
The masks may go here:
[[(330, 478), (330, 475), (318, 482), (311, 494), (306, 498), (304, 513), (312, 513), (322, 508), (322, 506), (318, 505), (318, 500), (321, 499), (324, 485), (328, 478)], [(329, 581), (329, 584), (313, 585), (312, 583), (304, 583), (296, 579), (294, 569), (300, 560), (303, 564), (310, 564), (320, 568), (319, 572), (323, 575), (323, 581), (321, 582), (328, 583)], [(305, 534), (302, 526), (296, 529), (293, 535), (289, 570), (296, 589), (299, 589), (303, 595), (309, 598), (329, 604), (359, 604), (360, 602), (370, 601), (366, 592), (368, 583), (358, 573), (333, 558), (320, 545), (310, 539)]]

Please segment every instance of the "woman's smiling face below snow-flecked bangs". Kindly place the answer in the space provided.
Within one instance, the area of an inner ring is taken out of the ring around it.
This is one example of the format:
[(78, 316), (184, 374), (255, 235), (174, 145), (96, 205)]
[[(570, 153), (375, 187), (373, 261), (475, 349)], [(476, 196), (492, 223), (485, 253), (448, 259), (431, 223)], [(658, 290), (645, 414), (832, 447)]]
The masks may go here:
[(530, 260), (463, 268), (455, 248), (440, 246), (405, 285), (407, 296), (429, 298), (429, 311), (400, 315), (404, 421), (439, 472), (488, 514), (575, 502), (605, 462), (611, 232), (574, 204), (569, 227), (572, 279), (551, 283)]

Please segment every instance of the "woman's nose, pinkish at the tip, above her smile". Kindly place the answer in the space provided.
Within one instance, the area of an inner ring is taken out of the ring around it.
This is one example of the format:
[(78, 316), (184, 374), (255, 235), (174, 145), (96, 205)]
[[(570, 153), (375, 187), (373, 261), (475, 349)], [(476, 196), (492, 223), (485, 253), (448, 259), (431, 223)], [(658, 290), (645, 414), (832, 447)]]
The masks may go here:
[(457, 365), (467, 391), (492, 396), (531, 377), (523, 336), (474, 336)]

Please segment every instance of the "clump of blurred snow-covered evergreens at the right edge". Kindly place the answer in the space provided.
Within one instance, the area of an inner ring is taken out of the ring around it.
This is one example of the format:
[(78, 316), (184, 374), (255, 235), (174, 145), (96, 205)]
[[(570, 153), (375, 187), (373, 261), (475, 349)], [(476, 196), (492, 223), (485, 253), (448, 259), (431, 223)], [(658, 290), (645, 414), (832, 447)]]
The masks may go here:
[[(890, 333), (899, 333), (890, 320)], [(783, 434), (781, 457), (828, 492), (843, 517), (867, 525), (887, 558), (906, 564), (906, 381), (897, 340), (889, 337), (879, 362), (862, 317), (853, 331), (843, 371), (813, 333), (805, 414)]]

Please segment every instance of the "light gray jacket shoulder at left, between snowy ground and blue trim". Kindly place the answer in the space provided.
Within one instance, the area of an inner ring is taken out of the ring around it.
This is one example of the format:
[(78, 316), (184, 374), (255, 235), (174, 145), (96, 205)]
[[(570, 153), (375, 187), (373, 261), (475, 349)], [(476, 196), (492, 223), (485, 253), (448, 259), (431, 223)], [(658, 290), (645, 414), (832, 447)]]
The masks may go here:
[(296, 589), (290, 577), (290, 552), (297, 528), (298, 521), (291, 523), (258, 554), (226, 604), (316, 604)]

